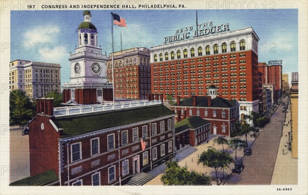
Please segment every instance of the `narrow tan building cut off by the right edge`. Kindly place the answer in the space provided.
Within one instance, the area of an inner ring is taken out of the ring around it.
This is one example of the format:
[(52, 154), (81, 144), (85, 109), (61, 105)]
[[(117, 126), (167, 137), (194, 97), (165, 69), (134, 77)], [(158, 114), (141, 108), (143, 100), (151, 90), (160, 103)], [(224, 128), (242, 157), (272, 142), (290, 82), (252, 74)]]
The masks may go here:
[[(293, 76), (296, 74), (297, 76)], [(292, 72), (291, 100), (291, 144), (292, 158), (298, 158), (298, 73)]]

